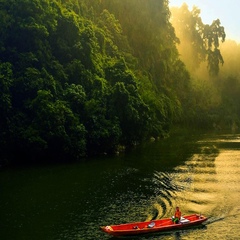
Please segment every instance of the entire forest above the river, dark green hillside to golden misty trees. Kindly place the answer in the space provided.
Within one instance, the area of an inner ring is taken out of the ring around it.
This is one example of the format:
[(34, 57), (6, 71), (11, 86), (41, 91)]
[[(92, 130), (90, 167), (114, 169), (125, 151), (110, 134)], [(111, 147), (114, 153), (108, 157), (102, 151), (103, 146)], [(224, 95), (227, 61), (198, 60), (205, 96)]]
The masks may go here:
[(0, 0), (0, 165), (240, 126), (240, 45), (168, 0)]

